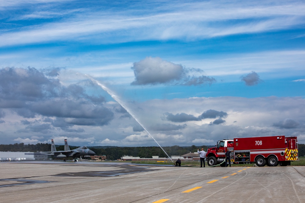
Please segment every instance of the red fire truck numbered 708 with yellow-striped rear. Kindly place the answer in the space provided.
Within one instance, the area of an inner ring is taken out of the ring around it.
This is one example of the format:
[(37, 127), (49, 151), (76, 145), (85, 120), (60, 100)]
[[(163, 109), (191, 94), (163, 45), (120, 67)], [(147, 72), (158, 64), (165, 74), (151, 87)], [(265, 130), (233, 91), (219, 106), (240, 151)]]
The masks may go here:
[(270, 136), (253, 138), (234, 138), (217, 141), (216, 147), (206, 153), (209, 166), (225, 166), (225, 152), (231, 152), (233, 163), (256, 163), (257, 166), (287, 166), (298, 160), (297, 137)]

